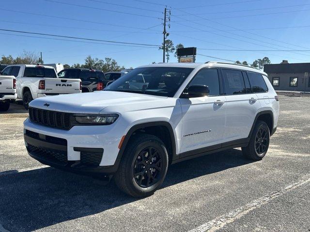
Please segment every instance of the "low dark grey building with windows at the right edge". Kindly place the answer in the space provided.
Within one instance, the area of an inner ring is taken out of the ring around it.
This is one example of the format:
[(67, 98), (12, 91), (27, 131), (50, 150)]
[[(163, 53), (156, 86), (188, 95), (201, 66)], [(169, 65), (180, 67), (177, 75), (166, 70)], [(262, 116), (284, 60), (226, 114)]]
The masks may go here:
[(263, 71), (275, 90), (310, 92), (310, 63), (265, 64)]

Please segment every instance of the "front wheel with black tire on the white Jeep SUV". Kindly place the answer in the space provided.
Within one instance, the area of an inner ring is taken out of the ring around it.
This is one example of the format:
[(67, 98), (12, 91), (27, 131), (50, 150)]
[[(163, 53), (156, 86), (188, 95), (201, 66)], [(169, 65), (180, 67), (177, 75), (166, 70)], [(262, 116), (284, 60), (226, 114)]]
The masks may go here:
[(114, 181), (133, 197), (147, 197), (161, 186), (167, 169), (168, 153), (164, 143), (154, 135), (138, 134), (128, 142)]

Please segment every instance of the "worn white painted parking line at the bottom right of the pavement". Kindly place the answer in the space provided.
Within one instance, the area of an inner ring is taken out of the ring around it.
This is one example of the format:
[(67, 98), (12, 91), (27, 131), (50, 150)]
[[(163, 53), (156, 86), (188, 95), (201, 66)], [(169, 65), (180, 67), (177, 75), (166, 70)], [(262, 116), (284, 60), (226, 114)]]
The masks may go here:
[(189, 232), (214, 232), (218, 229), (224, 227), (228, 223), (232, 223), (234, 220), (243, 217), (244, 215), (248, 214), (250, 211), (262, 206), (263, 204), (267, 203), (268, 201), (281, 196), (284, 192), (292, 190), (294, 188), (298, 188), (306, 183), (310, 182), (310, 176), (304, 176), (301, 180), (295, 182), (292, 185), (286, 186), (280, 190), (276, 190), (270, 194), (267, 194), (259, 199), (253, 200), (252, 202), (241, 206), (227, 214), (224, 214), (220, 217), (217, 217), (207, 223), (196, 227)]

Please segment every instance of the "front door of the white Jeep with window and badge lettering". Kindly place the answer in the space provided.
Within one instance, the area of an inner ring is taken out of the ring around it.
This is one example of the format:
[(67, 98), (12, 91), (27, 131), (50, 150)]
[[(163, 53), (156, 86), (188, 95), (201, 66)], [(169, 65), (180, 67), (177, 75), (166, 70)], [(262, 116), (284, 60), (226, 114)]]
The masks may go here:
[[(217, 69), (203, 69), (189, 83), (205, 85), (209, 96), (180, 98), (182, 107), (181, 157), (220, 148), (226, 120), (225, 97), (220, 95)], [(211, 146), (211, 147), (210, 147)]]

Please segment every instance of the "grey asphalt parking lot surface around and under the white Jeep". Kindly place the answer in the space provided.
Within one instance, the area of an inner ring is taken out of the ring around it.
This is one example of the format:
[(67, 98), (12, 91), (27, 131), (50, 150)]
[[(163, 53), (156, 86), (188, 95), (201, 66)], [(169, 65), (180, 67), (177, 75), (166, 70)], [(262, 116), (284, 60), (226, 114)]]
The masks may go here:
[(12, 104), (0, 114), (0, 232), (310, 231), (310, 98), (279, 100), (263, 160), (231, 149), (184, 161), (144, 199), (31, 159), (23, 141), (28, 112)]

